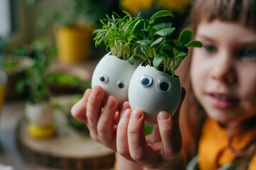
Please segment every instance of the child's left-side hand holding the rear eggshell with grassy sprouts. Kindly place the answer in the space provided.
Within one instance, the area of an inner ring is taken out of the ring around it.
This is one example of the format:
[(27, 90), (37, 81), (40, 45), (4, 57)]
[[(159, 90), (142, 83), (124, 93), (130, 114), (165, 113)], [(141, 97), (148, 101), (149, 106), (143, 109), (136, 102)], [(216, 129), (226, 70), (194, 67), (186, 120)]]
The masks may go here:
[[(108, 96), (102, 106), (104, 96), (105, 91), (100, 86), (87, 89), (80, 101), (71, 108), (71, 114), (85, 123), (93, 140), (116, 151), (118, 101), (114, 96)], [(126, 108), (129, 108), (127, 102), (120, 108), (120, 112)]]

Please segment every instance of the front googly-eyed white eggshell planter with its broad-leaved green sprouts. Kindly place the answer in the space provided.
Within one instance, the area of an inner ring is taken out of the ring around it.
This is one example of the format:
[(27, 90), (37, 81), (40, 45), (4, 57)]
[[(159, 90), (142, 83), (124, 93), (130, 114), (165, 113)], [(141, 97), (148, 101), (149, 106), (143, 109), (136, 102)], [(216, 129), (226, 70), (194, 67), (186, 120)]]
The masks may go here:
[[(156, 18), (174, 17), (171, 11), (154, 13), (149, 20), (137, 18), (129, 27), (137, 37), (137, 48), (142, 50), (144, 62), (137, 67), (129, 84), (129, 104), (146, 114), (146, 122), (155, 124), (162, 110), (174, 114), (181, 99), (181, 82), (175, 70), (188, 55), (188, 47), (201, 47), (193, 41), (191, 30), (183, 30), (178, 40), (169, 36), (175, 28), (172, 23), (156, 23)], [(138, 40), (139, 39), (139, 40)], [(136, 55), (136, 54), (134, 54)], [(129, 59), (133, 60), (133, 56)]]

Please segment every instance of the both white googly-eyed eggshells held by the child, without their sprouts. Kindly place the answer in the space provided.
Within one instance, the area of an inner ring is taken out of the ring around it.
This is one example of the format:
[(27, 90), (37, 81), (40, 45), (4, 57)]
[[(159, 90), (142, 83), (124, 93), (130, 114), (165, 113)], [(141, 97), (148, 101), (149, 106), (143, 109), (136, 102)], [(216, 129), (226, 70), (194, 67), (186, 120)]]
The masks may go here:
[[(138, 66), (139, 65), (139, 66)], [(141, 109), (146, 123), (156, 124), (157, 114), (174, 114), (181, 100), (181, 82), (178, 77), (161, 72), (149, 64), (131, 65), (107, 53), (95, 67), (92, 87), (102, 86), (105, 96), (115, 96), (121, 105), (129, 100), (133, 109)]]

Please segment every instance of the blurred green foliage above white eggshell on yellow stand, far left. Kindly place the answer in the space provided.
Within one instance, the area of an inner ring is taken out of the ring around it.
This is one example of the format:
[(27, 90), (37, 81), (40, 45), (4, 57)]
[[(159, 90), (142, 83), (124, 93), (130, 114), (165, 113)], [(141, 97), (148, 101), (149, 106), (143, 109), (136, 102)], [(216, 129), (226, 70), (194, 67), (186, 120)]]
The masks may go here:
[(26, 79), (18, 82), (16, 89), (22, 91), (25, 86), (29, 87), (29, 100), (32, 103), (40, 103), (48, 100), (49, 92), (46, 81), (48, 58), (45, 54), (45, 46), (40, 40), (33, 42), (34, 55), (33, 65), (26, 69)]

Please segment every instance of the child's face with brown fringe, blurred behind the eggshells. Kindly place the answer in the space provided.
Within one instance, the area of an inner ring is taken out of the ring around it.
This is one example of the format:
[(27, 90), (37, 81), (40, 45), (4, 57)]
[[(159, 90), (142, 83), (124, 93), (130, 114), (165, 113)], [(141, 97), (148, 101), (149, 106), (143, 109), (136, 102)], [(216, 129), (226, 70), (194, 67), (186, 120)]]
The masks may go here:
[(198, 25), (193, 91), (210, 118), (238, 123), (256, 115), (256, 31), (215, 20)]

